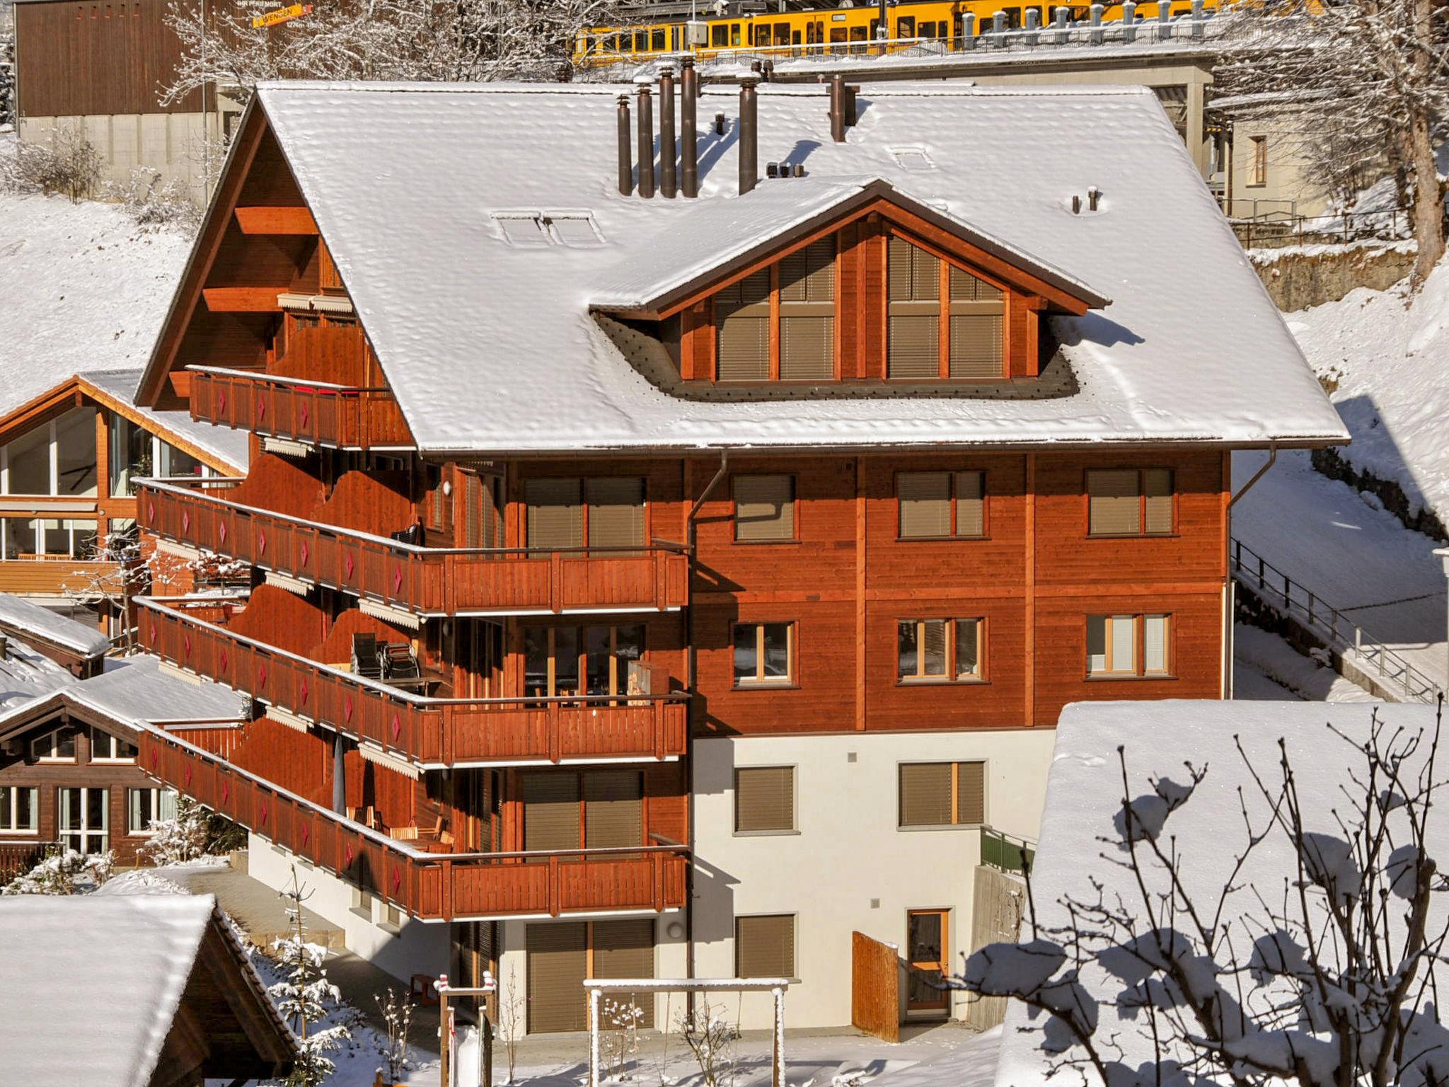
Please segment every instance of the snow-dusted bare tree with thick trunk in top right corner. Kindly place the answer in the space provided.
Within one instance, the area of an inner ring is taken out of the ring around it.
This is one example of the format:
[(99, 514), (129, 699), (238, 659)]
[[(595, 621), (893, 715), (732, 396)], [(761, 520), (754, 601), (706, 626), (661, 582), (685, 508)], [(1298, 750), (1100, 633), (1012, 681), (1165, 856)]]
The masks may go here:
[(1440, 0), (1236, 4), (1214, 90), (1236, 117), (1271, 120), (1340, 196), (1394, 172), (1419, 258), (1445, 252), (1436, 126), (1449, 119), (1449, 6)]

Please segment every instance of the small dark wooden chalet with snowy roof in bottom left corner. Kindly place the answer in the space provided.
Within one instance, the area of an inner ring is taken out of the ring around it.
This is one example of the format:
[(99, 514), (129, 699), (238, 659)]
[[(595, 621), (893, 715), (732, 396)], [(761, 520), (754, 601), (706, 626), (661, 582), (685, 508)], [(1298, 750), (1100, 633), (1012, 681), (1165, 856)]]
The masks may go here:
[(203, 1087), (297, 1058), (210, 894), (6, 897), (0, 946), (9, 1083)]

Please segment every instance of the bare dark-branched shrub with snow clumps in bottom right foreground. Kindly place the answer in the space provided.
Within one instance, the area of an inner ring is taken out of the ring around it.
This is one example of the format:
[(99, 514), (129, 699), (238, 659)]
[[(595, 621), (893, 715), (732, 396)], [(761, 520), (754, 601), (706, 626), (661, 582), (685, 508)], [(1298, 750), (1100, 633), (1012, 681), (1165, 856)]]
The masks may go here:
[(1210, 894), (1193, 877), (1207, 858), (1187, 854), (1174, 819), (1233, 793), (1187, 765), (1184, 781), (1133, 796), (1119, 748), (1116, 833), (1098, 841), (1122, 878), (1065, 894), (1055, 923), (1029, 894), (1030, 938), (975, 952), (953, 984), (1024, 1001), (1052, 1074), (1107, 1087), (1449, 1083), (1435, 978), (1449, 887), (1427, 848), (1440, 726), (1442, 703), (1432, 729), (1377, 712), (1366, 739), (1333, 729), (1355, 754), (1327, 799), (1300, 794), (1284, 741), (1264, 770), (1239, 739), (1242, 845)]

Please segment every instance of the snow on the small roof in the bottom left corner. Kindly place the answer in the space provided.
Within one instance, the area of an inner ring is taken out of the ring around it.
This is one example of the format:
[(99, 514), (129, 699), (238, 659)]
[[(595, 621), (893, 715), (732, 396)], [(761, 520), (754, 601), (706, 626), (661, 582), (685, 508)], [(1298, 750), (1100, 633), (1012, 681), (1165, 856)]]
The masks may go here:
[(12, 1083), (151, 1081), (216, 900), (0, 899), (0, 1052)]

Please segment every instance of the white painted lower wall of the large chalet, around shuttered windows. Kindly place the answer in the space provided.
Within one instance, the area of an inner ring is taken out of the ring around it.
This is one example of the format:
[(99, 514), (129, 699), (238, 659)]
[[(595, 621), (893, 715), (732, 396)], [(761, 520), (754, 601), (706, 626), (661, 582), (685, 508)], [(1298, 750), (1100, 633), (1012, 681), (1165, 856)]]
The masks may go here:
[[(742, 736), (694, 742), (694, 973), (735, 975), (735, 917), (796, 915), (798, 984), (785, 1025), (851, 1022), (851, 933), (904, 946), (906, 912), (949, 909), (952, 961), (971, 936), (977, 828), (897, 826), (897, 765), (987, 762), (987, 820), (1036, 838), (1055, 730)], [(851, 757), (855, 757), (853, 761)], [(796, 833), (736, 835), (735, 767), (796, 767)], [(736, 1012), (736, 997), (720, 997)], [(964, 997), (953, 1015), (964, 1013)], [(771, 1025), (768, 996), (738, 1004)]]

